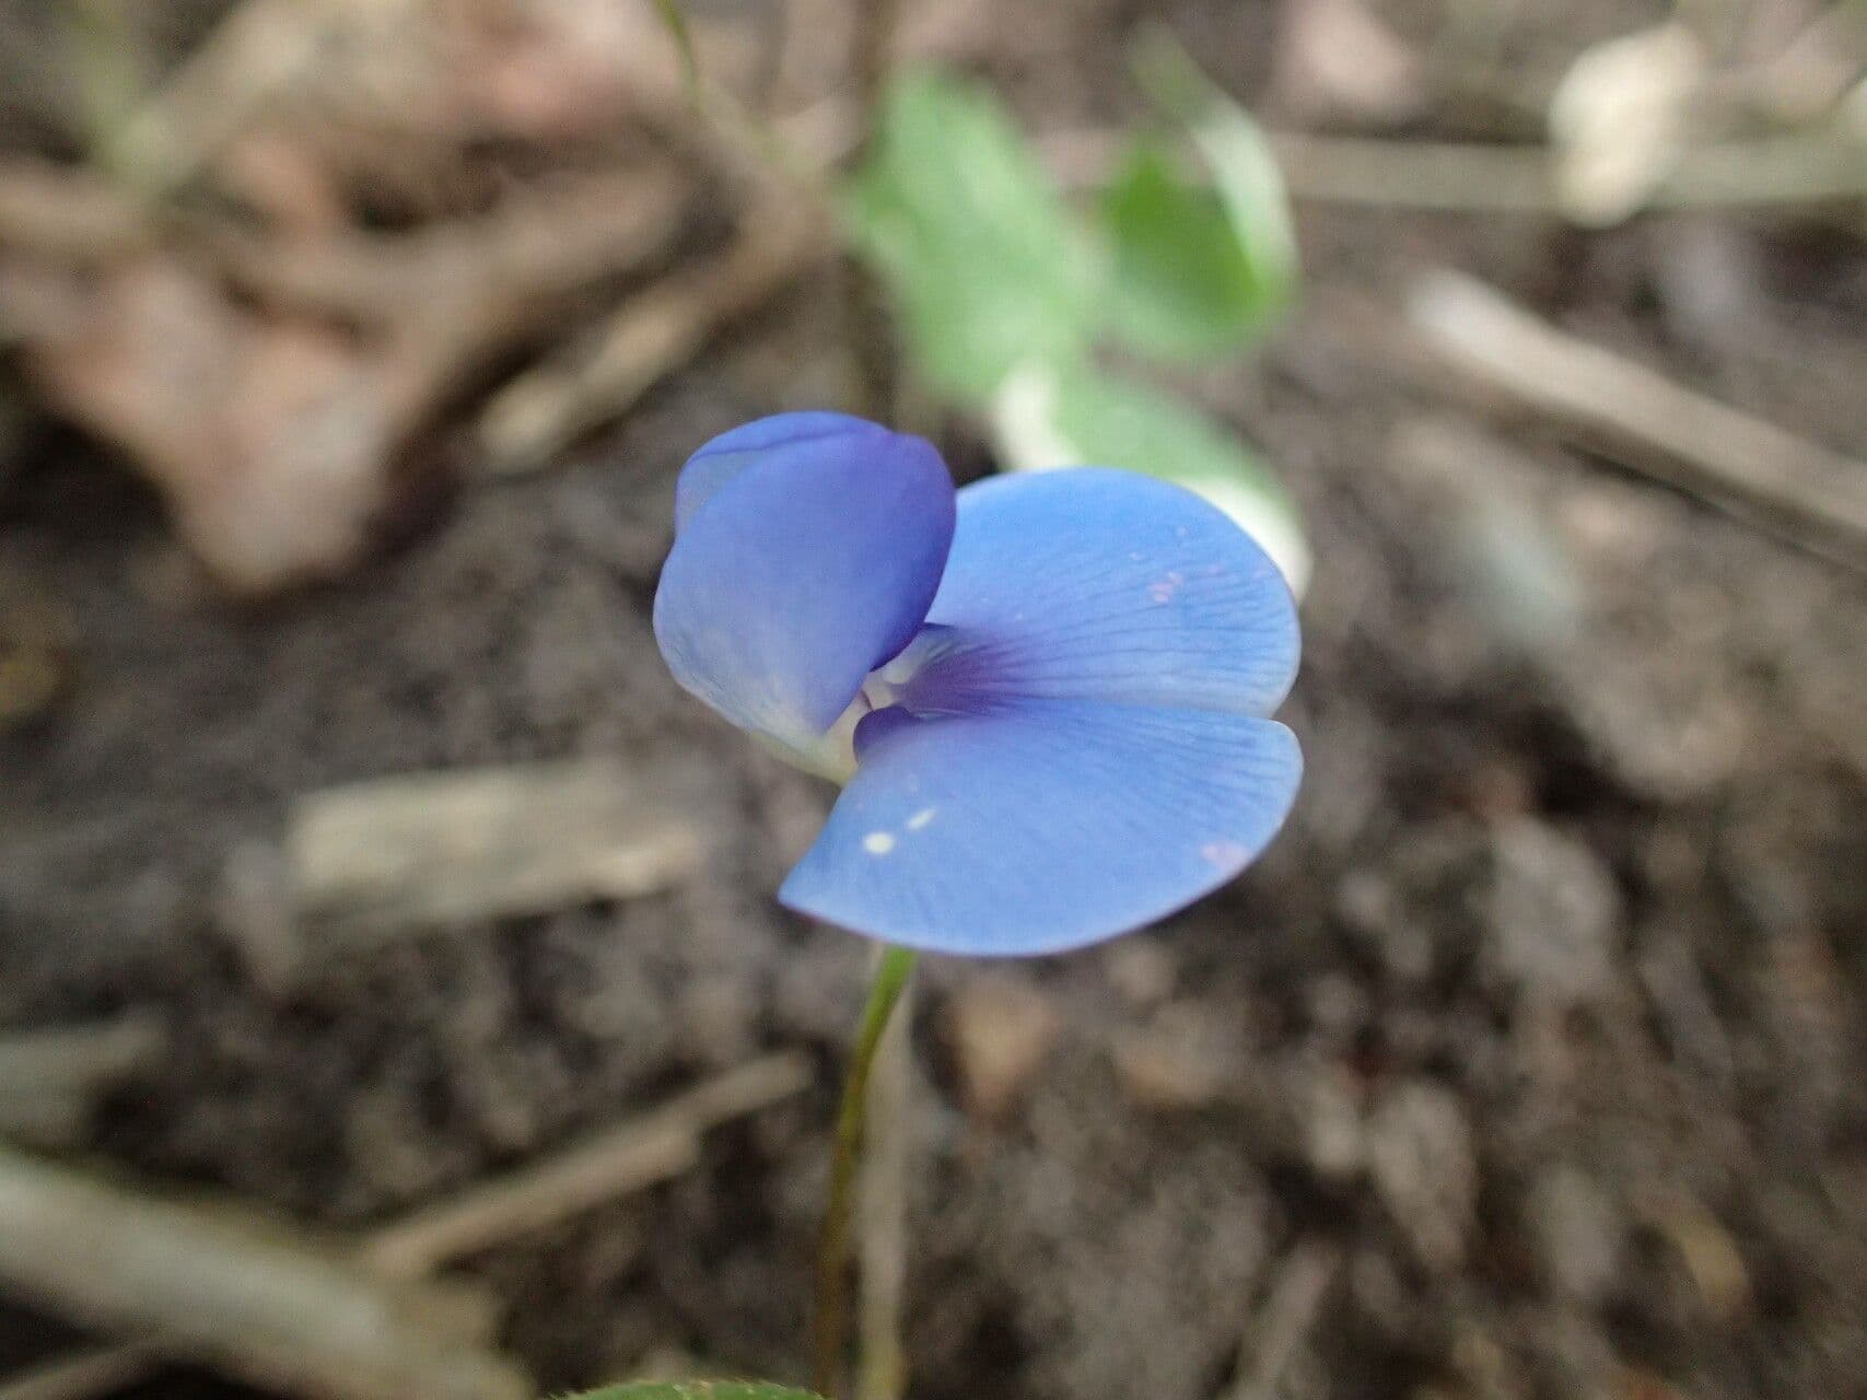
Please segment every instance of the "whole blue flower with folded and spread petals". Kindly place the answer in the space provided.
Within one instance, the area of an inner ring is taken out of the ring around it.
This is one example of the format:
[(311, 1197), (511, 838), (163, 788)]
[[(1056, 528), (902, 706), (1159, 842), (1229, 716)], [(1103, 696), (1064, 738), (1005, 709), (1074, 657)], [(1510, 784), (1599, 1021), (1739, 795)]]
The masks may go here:
[(1199, 497), (1100, 467), (954, 493), (917, 437), (792, 413), (681, 470), (674, 678), (846, 780), (779, 898), (911, 948), (1042, 954), (1191, 903), (1270, 844), (1290, 592)]

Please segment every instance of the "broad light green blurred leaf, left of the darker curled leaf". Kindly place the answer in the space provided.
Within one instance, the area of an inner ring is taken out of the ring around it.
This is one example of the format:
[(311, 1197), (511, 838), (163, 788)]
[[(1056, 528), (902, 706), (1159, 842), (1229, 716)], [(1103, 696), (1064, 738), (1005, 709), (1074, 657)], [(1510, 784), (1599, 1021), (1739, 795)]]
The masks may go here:
[(932, 73), (896, 82), (846, 213), (934, 388), (984, 403), (1014, 366), (1087, 347), (1094, 248), (988, 90)]

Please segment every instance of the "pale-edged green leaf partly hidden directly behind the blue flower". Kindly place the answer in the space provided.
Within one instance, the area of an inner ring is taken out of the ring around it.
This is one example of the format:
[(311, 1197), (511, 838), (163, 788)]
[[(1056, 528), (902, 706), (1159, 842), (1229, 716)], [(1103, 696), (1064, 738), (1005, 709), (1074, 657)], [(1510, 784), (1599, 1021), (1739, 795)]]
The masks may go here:
[(1249, 446), (1189, 403), (1090, 364), (1029, 364), (1006, 381), (991, 426), (1014, 470), (1094, 463), (1184, 485), (1256, 539), (1294, 594), (1309, 584), (1296, 502)]

